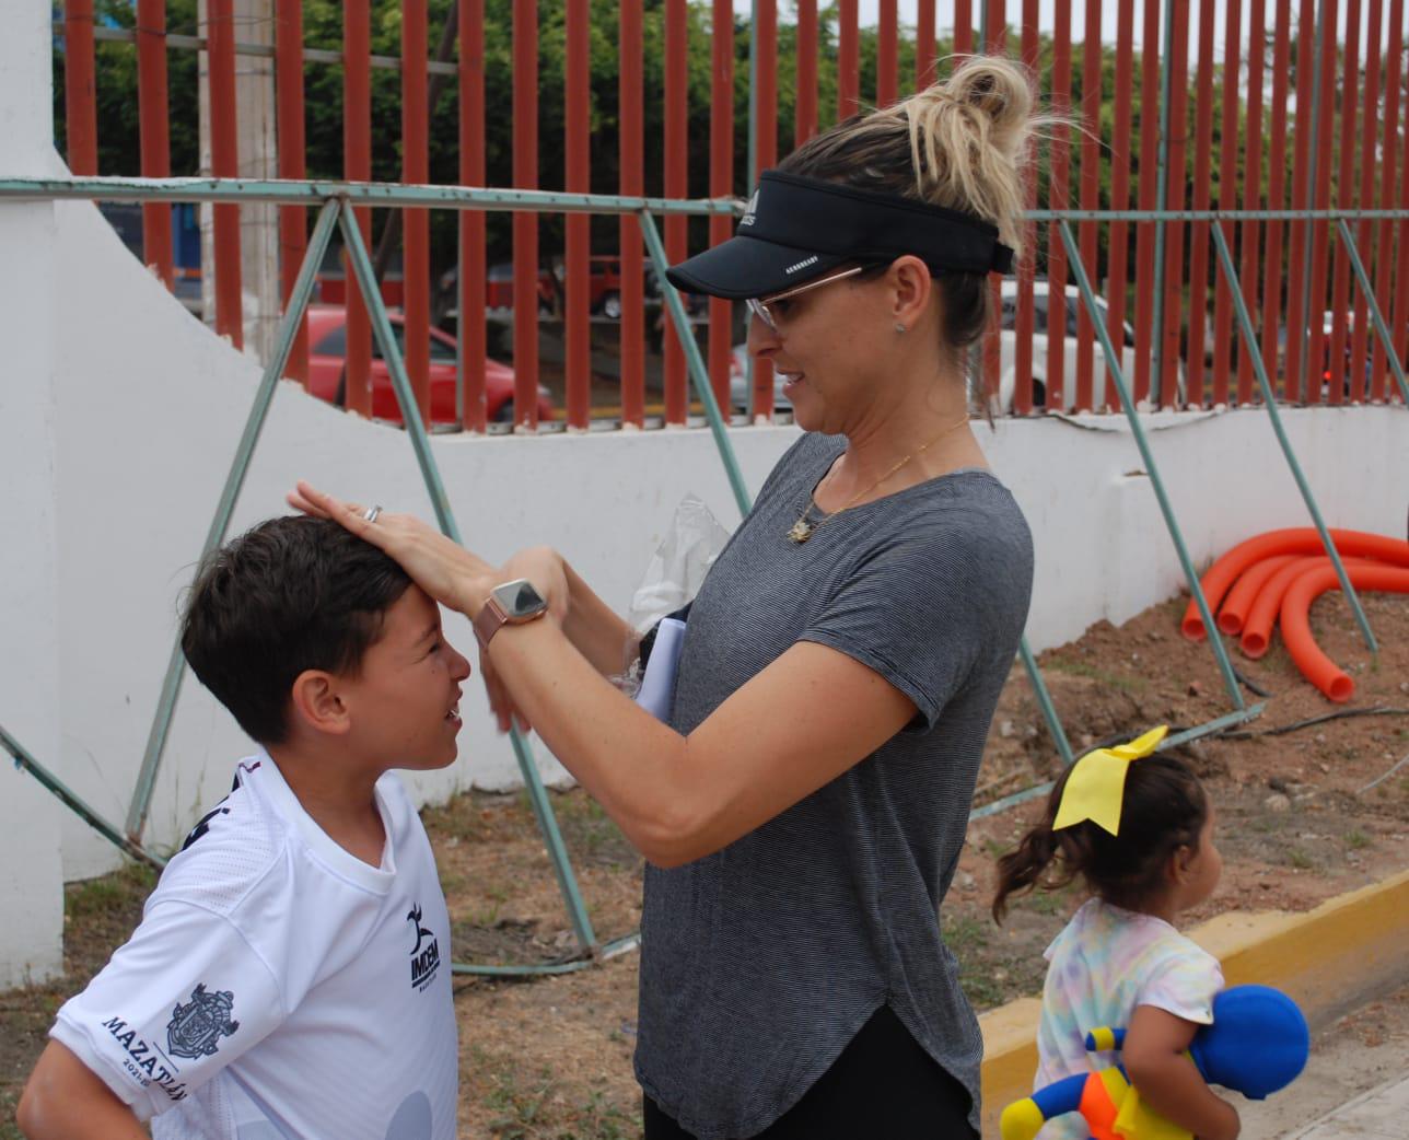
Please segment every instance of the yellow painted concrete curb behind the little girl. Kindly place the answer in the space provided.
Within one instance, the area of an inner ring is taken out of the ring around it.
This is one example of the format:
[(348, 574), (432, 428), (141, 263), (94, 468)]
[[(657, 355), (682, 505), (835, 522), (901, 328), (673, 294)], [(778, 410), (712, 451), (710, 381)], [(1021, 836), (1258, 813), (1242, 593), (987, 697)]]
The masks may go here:
[[(1303, 915), (1229, 913), (1189, 937), (1223, 964), (1229, 985), (1288, 993), (1312, 1026), (1326, 1024), (1409, 981), (1409, 871), (1340, 895)], [(1041, 1002), (1022, 998), (982, 1015), (983, 1136), (1003, 1106), (1033, 1091)]]

